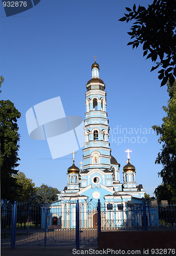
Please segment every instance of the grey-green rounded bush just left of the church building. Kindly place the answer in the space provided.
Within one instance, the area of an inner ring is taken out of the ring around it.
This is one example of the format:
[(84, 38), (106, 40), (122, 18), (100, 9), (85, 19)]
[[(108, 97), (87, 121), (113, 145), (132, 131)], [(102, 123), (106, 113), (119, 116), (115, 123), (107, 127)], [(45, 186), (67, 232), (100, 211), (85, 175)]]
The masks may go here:
[(55, 187), (51, 187), (42, 183), (40, 187), (35, 188), (35, 194), (49, 203), (57, 201), (57, 194), (60, 194), (60, 191)]

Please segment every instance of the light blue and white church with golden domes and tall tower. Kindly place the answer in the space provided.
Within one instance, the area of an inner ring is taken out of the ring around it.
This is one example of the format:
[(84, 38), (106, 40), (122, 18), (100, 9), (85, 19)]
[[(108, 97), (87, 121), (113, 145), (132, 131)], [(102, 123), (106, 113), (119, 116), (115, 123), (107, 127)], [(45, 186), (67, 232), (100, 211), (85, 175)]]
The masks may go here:
[[(76, 166), (73, 152), (73, 164), (65, 170), (67, 186), (58, 194), (58, 201), (50, 204), (49, 226), (75, 228), (75, 207), (79, 200), (82, 209), (81, 226), (96, 227), (98, 199), (105, 208), (110, 205), (116, 209), (110, 215), (101, 212), (102, 227), (109, 218), (118, 218), (122, 223), (127, 217), (120, 209), (125, 209), (128, 201), (140, 204), (144, 198), (142, 185), (136, 183), (136, 168), (129, 161), (129, 150), (126, 151), (127, 164), (123, 167), (123, 182), (120, 181), (120, 163), (112, 155), (108, 142), (105, 83), (99, 77), (96, 60), (92, 65), (92, 78), (86, 84), (85, 108), (83, 166), (82, 161), (80, 169)], [(88, 210), (90, 203), (95, 207)]]

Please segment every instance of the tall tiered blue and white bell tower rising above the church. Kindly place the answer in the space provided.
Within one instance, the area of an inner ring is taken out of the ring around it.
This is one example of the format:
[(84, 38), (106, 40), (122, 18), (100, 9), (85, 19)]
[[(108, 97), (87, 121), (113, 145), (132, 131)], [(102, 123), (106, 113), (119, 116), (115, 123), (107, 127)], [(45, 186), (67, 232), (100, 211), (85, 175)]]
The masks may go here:
[(99, 65), (92, 65), (92, 78), (86, 84), (85, 93), (85, 147), (83, 170), (99, 168), (111, 170), (111, 149), (109, 148), (109, 126), (106, 112), (105, 84), (99, 78)]

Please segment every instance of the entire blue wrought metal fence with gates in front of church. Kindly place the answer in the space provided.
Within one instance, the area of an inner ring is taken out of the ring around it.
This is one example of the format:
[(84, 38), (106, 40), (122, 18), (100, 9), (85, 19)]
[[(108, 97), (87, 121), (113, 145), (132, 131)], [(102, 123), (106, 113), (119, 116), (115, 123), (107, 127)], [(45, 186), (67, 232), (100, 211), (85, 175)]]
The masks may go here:
[(90, 245), (98, 243), (98, 232), (176, 228), (176, 206), (143, 200), (123, 203), (44, 200), (10, 204), (1, 201), (1, 244)]

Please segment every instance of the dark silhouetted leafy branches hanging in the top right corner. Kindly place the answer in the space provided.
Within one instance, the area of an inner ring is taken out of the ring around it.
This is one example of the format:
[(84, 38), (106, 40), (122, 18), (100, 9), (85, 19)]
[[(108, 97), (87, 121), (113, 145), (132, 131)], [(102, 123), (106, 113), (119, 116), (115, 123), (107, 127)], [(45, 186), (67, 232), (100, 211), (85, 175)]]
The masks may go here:
[(120, 18), (121, 22), (126, 20), (128, 23), (134, 20), (133, 26), (128, 34), (134, 41), (127, 45), (133, 45), (133, 49), (143, 45), (143, 56), (151, 58), (156, 62), (156, 66), (151, 71), (160, 68), (158, 78), (162, 80), (164, 86), (169, 79), (170, 86), (176, 77), (176, 1), (175, 0), (154, 0), (146, 9), (143, 6), (133, 10), (126, 7), (129, 12)]

